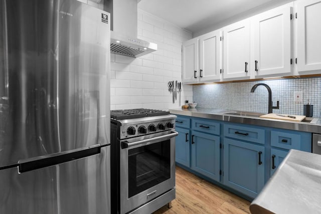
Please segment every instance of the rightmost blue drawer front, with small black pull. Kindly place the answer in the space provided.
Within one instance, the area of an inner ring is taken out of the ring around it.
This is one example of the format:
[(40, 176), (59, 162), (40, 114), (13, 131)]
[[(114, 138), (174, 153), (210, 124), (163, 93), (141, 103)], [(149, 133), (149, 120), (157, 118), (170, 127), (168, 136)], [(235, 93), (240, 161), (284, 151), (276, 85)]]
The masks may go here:
[(271, 131), (271, 146), (300, 150), (300, 134)]

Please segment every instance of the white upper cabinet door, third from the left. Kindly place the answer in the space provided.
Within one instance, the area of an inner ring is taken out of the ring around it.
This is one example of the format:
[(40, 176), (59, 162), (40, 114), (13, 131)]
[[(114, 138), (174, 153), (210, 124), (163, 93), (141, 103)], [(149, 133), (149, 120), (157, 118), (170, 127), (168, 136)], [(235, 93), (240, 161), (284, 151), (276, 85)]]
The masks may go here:
[[(223, 79), (250, 77), (249, 19), (223, 28)], [(246, 68), (246, 69), (245, 69)]]

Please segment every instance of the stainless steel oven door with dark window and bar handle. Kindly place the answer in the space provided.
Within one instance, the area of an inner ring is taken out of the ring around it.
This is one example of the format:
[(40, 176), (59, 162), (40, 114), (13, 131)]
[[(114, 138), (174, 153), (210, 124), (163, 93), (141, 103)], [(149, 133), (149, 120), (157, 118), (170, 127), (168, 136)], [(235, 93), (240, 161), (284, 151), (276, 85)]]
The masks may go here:
[(120, 213), (175, 187), (174, 130), (120, 141)]

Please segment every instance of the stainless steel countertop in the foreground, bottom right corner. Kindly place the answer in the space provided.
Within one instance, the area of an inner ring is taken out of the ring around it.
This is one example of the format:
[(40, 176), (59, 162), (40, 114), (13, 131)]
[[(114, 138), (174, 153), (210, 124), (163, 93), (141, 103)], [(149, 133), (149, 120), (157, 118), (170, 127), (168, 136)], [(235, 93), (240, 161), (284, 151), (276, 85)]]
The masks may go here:
[(256, 213), (320, 213), (321, 155), (290, 150), (250, 205)]

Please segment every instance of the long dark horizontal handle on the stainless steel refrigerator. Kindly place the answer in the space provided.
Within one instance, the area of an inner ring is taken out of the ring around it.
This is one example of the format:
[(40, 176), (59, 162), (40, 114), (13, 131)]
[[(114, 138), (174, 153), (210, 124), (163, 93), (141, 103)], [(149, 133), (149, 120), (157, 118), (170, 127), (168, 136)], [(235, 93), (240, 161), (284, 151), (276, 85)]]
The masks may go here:
[[(103, 145), (106, 146), (106, 145)], [(28, 172), (35, 169), (40, 169), (48, 166), (53, 166), (72, 160), (100, 154), (100, 144), (96, 144), (89, 147), (73, 149), (64, 152), (58, 152), (39, 157), (32, 157), (18, 161), (18, 173)]]

